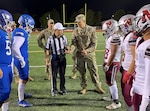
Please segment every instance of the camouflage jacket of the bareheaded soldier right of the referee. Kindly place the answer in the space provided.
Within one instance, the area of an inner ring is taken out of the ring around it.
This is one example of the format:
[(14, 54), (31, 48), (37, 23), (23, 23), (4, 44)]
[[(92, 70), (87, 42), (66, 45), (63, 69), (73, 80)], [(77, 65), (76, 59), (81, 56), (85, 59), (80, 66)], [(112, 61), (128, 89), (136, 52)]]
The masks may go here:
[(77, 52), (84, 49), (87, 53), (95, 53), (97, 46), (95, 28), (89, 25), (84, 29), (77, 27), (72, 34), (72, 45), (76, 46)]

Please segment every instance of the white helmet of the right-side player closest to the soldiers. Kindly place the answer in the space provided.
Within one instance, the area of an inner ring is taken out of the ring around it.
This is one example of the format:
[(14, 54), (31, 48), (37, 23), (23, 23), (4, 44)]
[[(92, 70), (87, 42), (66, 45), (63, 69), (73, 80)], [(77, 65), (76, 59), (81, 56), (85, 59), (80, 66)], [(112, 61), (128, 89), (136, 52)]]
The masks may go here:
[(106, 35), (111, 36), (116, 31), (118, 31), (118, 23), (114, 19), (109, 19), (103, 22), (102, 30), (105, 31)]

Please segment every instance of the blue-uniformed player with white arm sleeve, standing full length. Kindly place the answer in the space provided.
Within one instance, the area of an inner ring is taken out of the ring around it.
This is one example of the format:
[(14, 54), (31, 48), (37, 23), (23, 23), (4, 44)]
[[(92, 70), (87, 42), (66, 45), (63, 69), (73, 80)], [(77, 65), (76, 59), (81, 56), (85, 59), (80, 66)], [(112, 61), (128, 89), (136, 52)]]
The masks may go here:
[(25, 86), (29, 75), (28, 39), (35, 22), (30, 15), (23, 14), (19, 17), (18, 23), (20, 24), (19, 28), (16, 28), (12, 33), (14, 64), (20, 77), (18, 83), (18, 106), (30, 107), (32, 104), (26, 102), (24, 96), (31, 97), (31, 95), (25, 94)]

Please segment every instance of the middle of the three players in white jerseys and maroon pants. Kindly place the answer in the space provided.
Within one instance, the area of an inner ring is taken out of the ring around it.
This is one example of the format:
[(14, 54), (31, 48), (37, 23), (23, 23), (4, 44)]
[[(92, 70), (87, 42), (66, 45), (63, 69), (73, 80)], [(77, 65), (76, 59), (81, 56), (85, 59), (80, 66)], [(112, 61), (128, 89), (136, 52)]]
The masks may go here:
[(121, 88), (124, 101), (127, 105), (127, 111), (133, 111), (132, 98), (130, 95), (130, 90), (132, 88), (132, 79), (135, 69), (135, 44), (137, 36), (134, 33), (135, 30), (135, 16), (132, 14), (127, 14), (122, 16), (119, 21), (119, 27), (122, 34), (124, 35), (122, 41), (122, 67), (120, 68), (122, 73), (121, 78)]

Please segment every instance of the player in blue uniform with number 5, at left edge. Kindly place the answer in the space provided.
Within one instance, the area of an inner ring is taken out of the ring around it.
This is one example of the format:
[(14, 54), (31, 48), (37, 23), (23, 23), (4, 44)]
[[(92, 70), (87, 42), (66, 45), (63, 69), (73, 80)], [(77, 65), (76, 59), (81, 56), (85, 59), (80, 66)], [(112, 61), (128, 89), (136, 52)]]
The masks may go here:
[(8, 111), (8, 99), (12, 83), (12, 53), (11, 42), (7, 31), (11, 29), (12, 15), (0, 9), (0, 107)]

